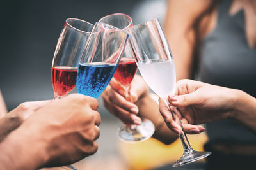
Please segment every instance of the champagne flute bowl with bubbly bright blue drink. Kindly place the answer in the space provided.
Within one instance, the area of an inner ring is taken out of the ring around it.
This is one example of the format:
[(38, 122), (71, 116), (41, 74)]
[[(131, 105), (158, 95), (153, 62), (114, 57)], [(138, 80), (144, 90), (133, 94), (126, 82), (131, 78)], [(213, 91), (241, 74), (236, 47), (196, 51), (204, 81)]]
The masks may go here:
[(96, 22), (77, 71), (77, 93), (97, 98), (113, 77), (128, 34), (116, 27)]

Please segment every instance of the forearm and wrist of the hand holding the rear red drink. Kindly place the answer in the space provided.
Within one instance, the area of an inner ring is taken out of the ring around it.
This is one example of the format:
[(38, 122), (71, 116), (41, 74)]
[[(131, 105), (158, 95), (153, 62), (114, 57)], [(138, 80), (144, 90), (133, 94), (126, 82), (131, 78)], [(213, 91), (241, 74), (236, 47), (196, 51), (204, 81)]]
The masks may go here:
[(155, 125), (156, 130), (153, 138), (156, 138), (166, 145), (177, 139), (177, 135), (170, 131), (170, 129), (168, 129), (167, 125), (164, 123), (163, 117), (159, 112), (159, 106), (157, 102), (150, 97), (150, 94), (147, 94), (140, 99), (136, 105), (139, 108), (140, 117), (148, 118)]

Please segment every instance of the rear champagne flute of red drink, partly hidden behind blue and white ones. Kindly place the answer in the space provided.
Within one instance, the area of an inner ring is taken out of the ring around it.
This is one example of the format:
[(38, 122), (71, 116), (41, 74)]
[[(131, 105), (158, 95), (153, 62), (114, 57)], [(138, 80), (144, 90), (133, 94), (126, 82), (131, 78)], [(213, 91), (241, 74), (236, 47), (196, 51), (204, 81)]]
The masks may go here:
[[(126, 31), (133, 26), (132, 18), (124, 13), (107, 15), (101, 18), (100, 22), (122, 29), (122, 31)], [(125, 90), (124, 97), (129, 94), (130, 84), (136, 71), (137, 66), (132, 57), (131, 47), (127, 44), (114, 74), (115, 80), (118, 81), (120, 87), (123, 87)], [(143, 141), (150, 138), (155, 131), (154, 124), (146, 118), (141, 118), (141, 120), (142, 122), (140, 125), (122, 125), (121, 127), (118, 127), (118, 138), (126, 142)]]

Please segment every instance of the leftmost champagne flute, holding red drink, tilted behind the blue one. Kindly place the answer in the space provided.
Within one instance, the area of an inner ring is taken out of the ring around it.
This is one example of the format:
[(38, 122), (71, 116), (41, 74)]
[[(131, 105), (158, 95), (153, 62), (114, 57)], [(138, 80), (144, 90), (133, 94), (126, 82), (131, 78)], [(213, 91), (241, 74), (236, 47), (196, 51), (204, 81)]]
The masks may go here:
[[(52, 60), (54, 99), (61, 99), (76, 86), (77, 66), (92, 28), (92, 24), (83, 20), (66, 20)], [(72, 165), (67, 167), (76, 169)]]

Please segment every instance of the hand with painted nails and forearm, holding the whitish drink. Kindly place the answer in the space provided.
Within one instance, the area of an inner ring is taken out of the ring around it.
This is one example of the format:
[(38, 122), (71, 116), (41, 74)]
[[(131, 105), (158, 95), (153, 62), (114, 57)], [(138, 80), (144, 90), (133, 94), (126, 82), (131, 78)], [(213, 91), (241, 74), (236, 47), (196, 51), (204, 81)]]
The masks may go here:
[[(193, 80), (177, 82), (177, 96), (171, 96), (168, 101), (179, 108), (178, 116), (186, 120), (186, 124), (204, 124), (215, 120), (232, 118), (251, 129), (256, 134), (256, 99), (237, 89), (210, 85)], [(166, 109), (159, 100), (162, 115), (167, 115)], [(181, 130), (172, 117), (167, 118), (170, 129)], [(184, 124), (184, 125), (186, 125)]]

